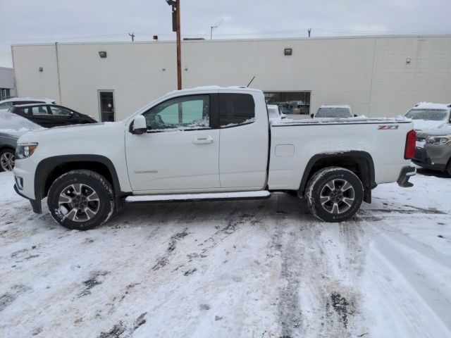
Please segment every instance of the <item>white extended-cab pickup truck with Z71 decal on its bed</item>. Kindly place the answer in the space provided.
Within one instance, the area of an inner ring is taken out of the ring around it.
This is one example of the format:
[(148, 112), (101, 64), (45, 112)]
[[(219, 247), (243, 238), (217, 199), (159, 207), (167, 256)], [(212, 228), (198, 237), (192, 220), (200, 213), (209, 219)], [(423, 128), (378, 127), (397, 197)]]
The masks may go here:
[[(15, 189), (56, 222), (87, 230), (125, 203), (261, 199), (292, 192), (326, 222), (348, 220), (377, 184), (412, 186), (412, 122), (268, 120), (263, 92), (170, 92), (129, 118), (27, 132)], [(168, 215), (170, 217), (170, 215)]]

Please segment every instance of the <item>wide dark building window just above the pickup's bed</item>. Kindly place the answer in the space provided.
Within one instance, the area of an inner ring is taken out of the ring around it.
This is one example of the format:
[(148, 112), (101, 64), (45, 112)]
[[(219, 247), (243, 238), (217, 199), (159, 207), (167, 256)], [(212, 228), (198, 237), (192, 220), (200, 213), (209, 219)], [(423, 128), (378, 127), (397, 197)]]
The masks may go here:
[(311, 92), (264, 92), (266, 104), (276, 104), (284, 114), (309, 114)]

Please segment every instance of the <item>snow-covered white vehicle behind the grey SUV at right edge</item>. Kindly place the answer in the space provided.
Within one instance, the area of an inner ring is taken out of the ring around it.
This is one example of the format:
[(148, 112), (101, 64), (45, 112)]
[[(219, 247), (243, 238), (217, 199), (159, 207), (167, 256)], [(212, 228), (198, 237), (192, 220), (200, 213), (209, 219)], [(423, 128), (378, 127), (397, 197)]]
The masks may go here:
[(432, 104), (421, 102), (404, 115), (412, 118), (415, 130), (429, 130), (451, 123), (451, 104)]

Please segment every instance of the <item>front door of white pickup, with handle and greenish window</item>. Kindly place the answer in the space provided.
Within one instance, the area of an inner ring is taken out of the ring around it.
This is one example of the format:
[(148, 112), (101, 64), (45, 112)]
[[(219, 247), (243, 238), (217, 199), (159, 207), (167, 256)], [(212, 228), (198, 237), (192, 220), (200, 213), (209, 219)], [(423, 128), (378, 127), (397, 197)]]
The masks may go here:
[(210, 125), (210, 96), (168, 99), (150, 108), (147, 133), (125, 132), (133, 191), (204, 192), (219, 184), (219, 130)]

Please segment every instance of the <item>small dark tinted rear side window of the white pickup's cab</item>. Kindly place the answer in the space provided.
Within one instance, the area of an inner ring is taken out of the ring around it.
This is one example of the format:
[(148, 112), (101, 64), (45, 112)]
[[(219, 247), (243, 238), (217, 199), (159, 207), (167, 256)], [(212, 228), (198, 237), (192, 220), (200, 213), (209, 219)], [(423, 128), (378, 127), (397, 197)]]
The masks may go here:
[(221, 128), (246, 125), (255, 120), (255, 104), (250, 94), (219, 94)]

